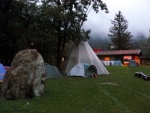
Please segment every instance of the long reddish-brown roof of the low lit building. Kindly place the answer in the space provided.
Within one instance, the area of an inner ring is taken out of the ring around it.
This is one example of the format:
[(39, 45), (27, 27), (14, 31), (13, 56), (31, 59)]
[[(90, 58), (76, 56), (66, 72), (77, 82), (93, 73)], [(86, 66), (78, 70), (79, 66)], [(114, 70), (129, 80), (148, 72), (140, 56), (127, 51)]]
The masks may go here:
[(114, 50), (95, 52), (96, 55), (139, 55), (141, 50)]

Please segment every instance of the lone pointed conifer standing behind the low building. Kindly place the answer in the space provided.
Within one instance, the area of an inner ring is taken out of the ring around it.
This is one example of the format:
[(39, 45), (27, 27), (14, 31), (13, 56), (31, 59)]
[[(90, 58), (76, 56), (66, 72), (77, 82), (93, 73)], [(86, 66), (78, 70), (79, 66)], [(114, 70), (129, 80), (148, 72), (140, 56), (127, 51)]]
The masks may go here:
[(127, 31), (128, 21), (122, 15), (121, 11), (115, 15), (114, 20), (111, 20), (112, 27), (109, 29), (110, 40), (112, 42), (113, 49), (125, 50), (131, 48), (132, 35)]

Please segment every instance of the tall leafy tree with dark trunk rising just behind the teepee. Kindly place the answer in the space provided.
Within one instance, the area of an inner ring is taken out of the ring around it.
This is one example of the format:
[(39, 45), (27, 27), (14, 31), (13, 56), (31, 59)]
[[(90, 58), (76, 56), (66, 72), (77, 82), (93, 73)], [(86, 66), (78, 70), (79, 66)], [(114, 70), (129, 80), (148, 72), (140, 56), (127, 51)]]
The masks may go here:
[(101, 0), (42, 0), (42, 15), (47, 13), (43, 15), (46, 21), (44, 29), (50, 31), (54, 37), (58, 68), (66, 43), (79, 43), (89, 39), (90, 30), (85, 31), (82, 25), (92, 8), (96, 12), (99, 9), (108, 11), (106, 4)]

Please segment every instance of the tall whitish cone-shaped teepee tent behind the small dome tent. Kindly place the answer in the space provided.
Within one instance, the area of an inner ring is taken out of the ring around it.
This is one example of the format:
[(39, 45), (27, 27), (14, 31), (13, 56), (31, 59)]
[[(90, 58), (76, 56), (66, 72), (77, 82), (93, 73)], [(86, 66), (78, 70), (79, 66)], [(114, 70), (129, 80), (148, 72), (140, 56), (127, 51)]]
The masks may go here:
[(101, 60), (94, 53), (88, 42), (80, 42), (78, 45), (73, 45), (69, 51), (67, 58), (61, 66), (63, 74), (67, 74), (72, 67), (78, 63), (88, 63), (97, 68), (97, 74), (109, 74)]

